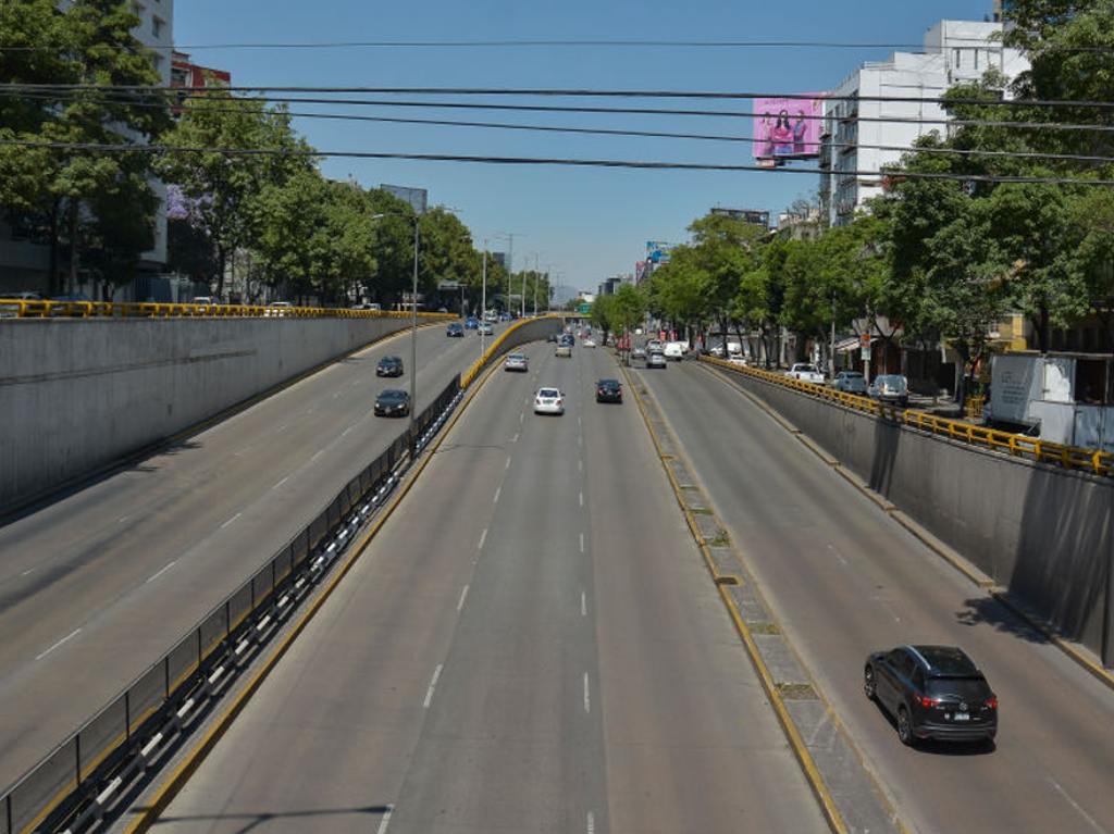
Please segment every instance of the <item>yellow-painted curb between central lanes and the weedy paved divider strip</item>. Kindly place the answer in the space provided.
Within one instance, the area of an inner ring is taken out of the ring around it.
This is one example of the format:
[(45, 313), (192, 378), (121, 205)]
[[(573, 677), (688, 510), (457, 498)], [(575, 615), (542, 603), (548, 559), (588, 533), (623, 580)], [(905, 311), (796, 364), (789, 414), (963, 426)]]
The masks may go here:
[(716, 566), (711, 559), (711, 555), (707, 550), (707, 542), (701, 533), (696, 520), (693, 518), (692, 512), (688, 510), (687, 504), (684, 501), (684, 494), (677, 483), (676, 475), (670, 469), (667, 461), (674, 459), (676, 455), (664, 454), (662, 451), (661, 440), (658, 439), (657, 432), (654, 430), (653, 423), (646, 413), (646, 406), (643, 403), (642, 394), (638, 392), (638, 384), (632, 377), (631, 372), (623, 365), (619, 366), (624, 377), (627, 381), (631, 390), (634, 392), (635, 402), (638, 405), (638, 412), (642, 414), (643, 422), (646, 424), (646, 430), (649, 432), (651, 440), (654, 443), (654, 449), (657, 452), (658, 460), (662, 463), (662, 468), (665, 470), (666, 477), (670, 481), (670, 487), (673, 489), (673, 494), (684, 513), (685, 521), (688, 523), (688, 529), (700, 548), (701, 555), (704, 557), (704, 561), (712, 575), (713, 580), (716, 585), (716, 591), (720, 598), (723, 600), (724, 606), (727, 609), (727, 614), (731, 616), (732, 621), (735, 625), (735, 630), (739, 632), (740, 638), (746, 649), (746, 654), (750, 657), (751, 664), (754, 666), (754, 670), (762, 681), (762, 688), (765, 691), (766, 698), (769, 698), (770, 704), (773, 706), (774, 713), (778, 716), (778, 723), (781, 725), (782, 730), (789, 740), (790, 746), (793, 748), (793, 755), (797, 757), (798, 763), (801, 765), (801, 769), (804, 772), (804, 777), (812, 789), (817, 802), (820, 805), (821, 813), (828, 823), (828, 827), (832, 831), (832, 834), (849, 834), (849, 828), (843, 820), (842, 814), (836, 806), (836, 801), (832, 798), (831, 791), (828, 788), (827, 783), (820, 775), (820, 771), (817, 768), (815, 761), (812, 758), (812, 754), (804, 746), (804, 742), (801, 737), (800, 730), (798, 729), (795, 723), (790, 716), (789, 710), (785, 707), (785, 703), (781, 697), (773, 677), (770, 674), (770, 669), (766, 666), (761, 653), (759, 651), (758, 645), (754, 641), (754, 637), (751, 634), (750, 628), (743, 620), (742, 615), (739, 612), (739, 608), (734, 600), (727, 595), (727, 590), (724, 586), (726, 585), (742, 585), (742, 580), (736, 576), (729, 576), (720, 573)]

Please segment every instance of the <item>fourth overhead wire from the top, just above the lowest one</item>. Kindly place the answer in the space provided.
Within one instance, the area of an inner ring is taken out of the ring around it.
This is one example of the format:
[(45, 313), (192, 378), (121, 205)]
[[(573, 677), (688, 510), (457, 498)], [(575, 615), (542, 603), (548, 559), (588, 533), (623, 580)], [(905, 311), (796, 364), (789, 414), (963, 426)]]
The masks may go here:
[[(104, 101), (98, 101), (102, 104)], [(163, 107), (163, 105), (152, 104), (152, 102), (137, 102), (136, 107)], [(241, 112), (240, 109), (235, 107), (208, 107), (208, 106), (192, 106), (189, 108), (190, 112), (226, 112), (226, 114), (237, 114)], [(428, 125), (434, 127), (466, 127), (466, 128), (483, 128), (483, 129), (495, 129), (495, 130), (522, 130), (532, 133), (550, 133), (550, 134), (578, 134), (586, 136), (616, 136), (616, 137), (635, 137), (635, 138), (653, 138), (653, 139), (686, 139), (686, 140), (702, 140), (702, 141), (724, 141), (724, 143), (739, 143), (746, 145), (759, 145), (762, 144), (763, 139), (756, 139), (750, 136), (731, 136), (726, 134), (685, 134), (685, 133), (673, 133), (666, 130), (633, 130), (628, 128), (588, 128), (588, 127), (570, 127), (563, 125), (521, 125), (515, 122), (506, 121), (463, 121), (456, 119), (408, 119), (402, 117), (392, 116), (354, 116), (352, 114), (332, 114), (332, 112), (309, 112), (309, 111), (285, 111), (286, 116), (299, 119), (323, 119), (323, 120), (336, 120), (336, 121), (358, 121), (358, 122), (375, 122), (375, 124), (392, 124), (392, 125)], [(1086, 156), (1081, 154), (1042, 154), (1037, 151), (1020, 151), (1020, 150), (978, 150), (978, 149), (961, 149), (961, 148), (918, 148), (912, 145), (868, 145), (861, 143), (825, 143), (824, 147), (830, 147), (836, 150), (844, 149), (862, 149), (862, 150), (886, 150), (891, 153), (921, 153), (928, 155), (952, 155), (952, 156), (967, 156), (967, 157), (990, 157), (990, 158), (1003, 158), (1003, 159), (1034, 159), (1034, 160), (1048, 160), (1048, 161), (1065, 161), (1065, 163), (1114, 163), (1114, 157), (1111, 156)]]

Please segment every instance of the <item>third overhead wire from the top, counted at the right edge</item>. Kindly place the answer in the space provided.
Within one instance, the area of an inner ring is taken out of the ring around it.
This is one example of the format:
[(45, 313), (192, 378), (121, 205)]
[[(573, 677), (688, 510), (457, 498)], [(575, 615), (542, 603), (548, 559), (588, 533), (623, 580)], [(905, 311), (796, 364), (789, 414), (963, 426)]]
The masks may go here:
[[(164, 92), (174, 94), (177, 92), (179, 88), (162, 88)], [(227, 88), (224, 87), (209, 87), (206, 88), (209, 95), (186, 92), (178, 94), (179, 100), (185, 99), (212, 99), (214, 91), (223, 91)], [(149, 92), (150, 90), (146, 90)], [(17, 91), (6, 91), (4, 88), (0, 87), (0, 96), (21, 95)], [(75, 91), (66, 91), (66, 95), (77, 95)], [(111, 95), (124, 95), (121, 92), (113, 91)], [(130, 95), (130, 94), (128, 94)], [(49, 100), (58, 99), (58, 96), (51, 96), (48, 94), (27, 94), (26, 97), (40, 97), (47, 98)], [(344, 106), (360, 106), (360, 107), (407, 107), (407, 108), (430, 108), (430, 109), (455, 109), (455, 110), (506, 110), (515, 112), (578, 112), (578, 114), (609, 114), (609, 115), (635, 115), (635, 116), (682, 116), (682, 117), (714, 117), (714, 118), (761, 118), (768, 116), (769, 114), (755, 112), (753, 110), (694, 110), (694, 109), (680, 109), (680, 108), (654, 108), (654, 107), (590, 107), (580, 105), (500, 105), (483, 102), (477, 104), (471, 101), (404, 101), (394, 99), (349, 99), (349, 98), (309, 98), (309, 97), (293, 97), (293, 96), (252, 96), (245, 100), (252, 101), (263, 101), (267, 104), (315, 104), (315, 105), (344, 105)], [(795, 117), (794, 117), (795, 118)], [(838, 121), (830, 116), (811, 116), (803, 115), (800, 118), (809, 121), (823, 121), (831, 119), (832, 121)], [(1005, 128), (1018, 128), (1018, 129), (1030, 129), (1030, 130), (1084, 130), (1084, 131), (1095, 131), (1095, 133), (1114, 133), (1114, 124), (1112, 125), (1094, 125), (1094, 124), (1065, 124), (1059, 121), (999, 121), (989, 119), (949, 119), (947, 117), (940, 118), (917, 118), (908, 116), (854, 116), (847, 121), (860, 121), (860, 122), (883, 122), (883, 124), (900, 124), (900, 125), (946, 125), (955, 127), (1005, 127)]]

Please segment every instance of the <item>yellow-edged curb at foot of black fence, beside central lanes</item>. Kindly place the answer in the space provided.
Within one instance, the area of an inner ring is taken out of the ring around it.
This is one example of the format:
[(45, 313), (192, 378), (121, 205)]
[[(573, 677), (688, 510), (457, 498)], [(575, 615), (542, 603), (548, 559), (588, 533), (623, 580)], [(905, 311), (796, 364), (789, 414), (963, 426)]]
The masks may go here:
[(204, 763), (205, 758), (216, 746), (217, 742), (221, 740), (222, 736), (228, 730), (233, 722), (240, 716), (247, 701), (251, 700), (252, 696), (260, 689), (263, 683), (266, 680), (267, 676), (271, 674), (272, 669), (278, 665), (278, 661), (286, 654), (290, 646), (294, 640), (305, 630), (310, 621), (317, 614), (317, 611), (324, 606), (325, 601), (332, 596), (336, 586), (340, 585), (341, 580), (348, 576), (349, 571), (355, 566), (360, 557), (363, 556), (371, 543), (371, 540), (375, 537), (379, 530), (387, 523), (387, 520), (391, 518), (394, 510), (398, 509), (402, 499), (407, 497), (410, 489), (417, 482), (418, 477), (426, 470), (429, 462), (433, 459), (433, 455), (440, 449), (441, 443), (452, 431), (457, 421), (465, 413), (465, 410), (471, 404), (471, 401), (476, 399), (480, 390), (483, 387), (483, 383), (488, 381), (494, 372), (495, 366), (488, 369), (478, 383), (473, 383), (470, 386), (470, 393), (465, 396), (460, 405), (457, 408), (452, 418), (444, 425), (444, 429), (438, 433), (437, 441), (430, 445), (420, 457), (417, 468), (409, 472), (402, 484), (400, 485), (398, 492), (391, 499), (391, 502), (379, 513), (378, 518), (372, 522), (371, 527), (363, 534), (360, 541), (352, 547), (349, 556), (343, 565), (341, 565), (336, 572), (333, 573), (332, 578), (324, 589), (317, 595), (317, 597), (310, 604), (310, 606), (302, 612), (297, 621), (292, 625), (287, 634), (282, 638), (278, 645), (274, 646), (265, 659), (262, 661), (262, 666), (255, 671), (255, 674), (247, 680), (243, 689), (236, 695), (231, 704), (225, 708), (225, 710), (215, 718), (205, 732), (205, 734), (197, 739), (193, 748), (185, 754), (184, 758), (175, 767), (175, 769), (167, 776), (167, 778), (155, 789), (154, 797), (152, 801), (138, 810), (138, 815), (128, 823), (124, 831), (126, 834), (140, 834), (141, 832), (148, 831), (157, 821), (159, 815), (166, 807), (174, 801), (177, 794), (189, 781), (189, 777), (197, 771), (197, 768)]

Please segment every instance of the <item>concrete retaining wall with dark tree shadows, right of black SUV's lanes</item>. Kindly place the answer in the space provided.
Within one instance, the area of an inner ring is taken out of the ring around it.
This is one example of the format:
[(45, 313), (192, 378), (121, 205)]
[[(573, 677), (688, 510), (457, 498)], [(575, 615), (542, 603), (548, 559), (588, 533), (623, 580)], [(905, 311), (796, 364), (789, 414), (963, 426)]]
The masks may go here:
[(1105, 646), (1114, 661), (1114, 482), (731, 377), (1065, 636), (1096, 653)]

